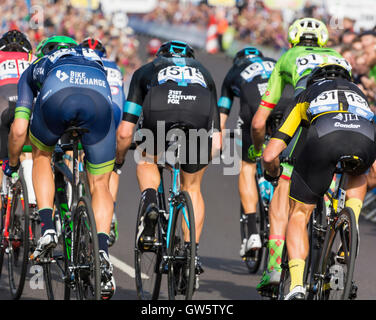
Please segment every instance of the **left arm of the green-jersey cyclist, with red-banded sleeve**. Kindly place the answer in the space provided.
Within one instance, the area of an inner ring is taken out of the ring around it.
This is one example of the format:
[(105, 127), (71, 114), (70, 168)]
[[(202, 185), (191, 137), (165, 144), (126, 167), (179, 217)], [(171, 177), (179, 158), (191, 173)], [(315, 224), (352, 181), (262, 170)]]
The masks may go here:
[(260, 106), (252, 119), (251, 135), (256, 151), (260, 151), (265, 139), (266, 120), (281, 98), (285, 82), (281, 75), (283, 57), (276, 63), (268, 81), (268, 88), (261, 98)]

